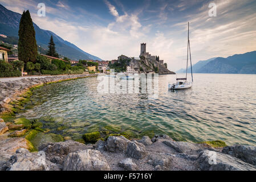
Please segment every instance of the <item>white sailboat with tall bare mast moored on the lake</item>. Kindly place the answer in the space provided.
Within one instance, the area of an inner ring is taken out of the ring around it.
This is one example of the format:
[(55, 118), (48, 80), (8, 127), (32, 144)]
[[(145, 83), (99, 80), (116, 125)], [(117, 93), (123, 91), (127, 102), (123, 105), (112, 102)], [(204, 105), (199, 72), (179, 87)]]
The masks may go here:
[[(190, 67), (191, 67), (191, 76), (192, 82), (188, 82), (188, 60), (190, 56)], [(192, 72), (192, 60), (191, 60), (191, 52), (190, 52), (190, 41), (189, 41), (189, 22), (188, 22), (188, 52), (186, 56), (186, 77), (185, 78), (176, 78), (176, 84), (169, 83), (168, 88), (171, 90), (178, 89), (188, 89), (192, 87), (193, 84), (193, 72)]]

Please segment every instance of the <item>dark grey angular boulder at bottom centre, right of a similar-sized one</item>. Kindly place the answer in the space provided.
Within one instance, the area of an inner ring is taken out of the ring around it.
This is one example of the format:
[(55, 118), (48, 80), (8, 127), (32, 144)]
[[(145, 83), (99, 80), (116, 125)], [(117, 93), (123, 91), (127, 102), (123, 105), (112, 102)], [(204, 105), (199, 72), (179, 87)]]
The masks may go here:
[(147, 151), (144, 144), (134, 141), (128, 143), (126, 154), (133, 159), (143, 159)]

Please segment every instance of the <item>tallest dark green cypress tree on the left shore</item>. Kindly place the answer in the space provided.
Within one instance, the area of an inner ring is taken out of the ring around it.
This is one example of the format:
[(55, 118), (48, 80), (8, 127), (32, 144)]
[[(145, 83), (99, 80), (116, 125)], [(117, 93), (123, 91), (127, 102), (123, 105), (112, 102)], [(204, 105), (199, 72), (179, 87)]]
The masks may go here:
[(35, 29), (29, 13), (23, 11), (19, 22), (18, 56), (20, 61), (27, 63), (35, 62), (37, 56), (37, 44), (35, 40)]

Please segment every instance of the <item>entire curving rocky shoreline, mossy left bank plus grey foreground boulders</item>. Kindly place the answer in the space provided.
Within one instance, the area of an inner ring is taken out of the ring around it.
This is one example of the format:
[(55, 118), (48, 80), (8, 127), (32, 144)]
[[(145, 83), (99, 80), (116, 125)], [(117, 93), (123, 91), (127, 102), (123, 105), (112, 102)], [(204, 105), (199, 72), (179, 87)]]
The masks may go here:
[[(0, 82), (0, 171), (256, 170), (254, 146), (226, 146), (221, 141), (176, 142), (167, 135), (129, 140), (124, 137), (126, 135), (117, 134), (103, 139), (99, 138), (99, 133), (94, 132), (85, 134), (83, 138), (85, 141), (97, 141), (95, 144), (83, 144), (66, 137), (62, 142), (46, 140), (35, 150), (29, 139), (38, 132), (47, 133), (40, 127), (40, 122), (31, 123), (26, 118), (8, 122), (8, 118), (14, 117), (19, 111), (19, 102), (26, 103), (29, 100), (31, 89), (90, 76), (94, 75), (23, 78)], [(26, 137), (20, 137), (25, 133), (28, 133)], [(58, 138), (55, 135), (53, 137)]]

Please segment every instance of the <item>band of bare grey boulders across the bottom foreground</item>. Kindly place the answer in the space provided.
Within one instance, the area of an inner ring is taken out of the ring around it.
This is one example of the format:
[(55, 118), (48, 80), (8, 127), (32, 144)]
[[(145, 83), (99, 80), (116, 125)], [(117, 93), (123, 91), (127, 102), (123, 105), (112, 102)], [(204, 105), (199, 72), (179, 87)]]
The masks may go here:
[[(111, 136), (83, 144), (46, 143), (30, 152), (21, 138), (0, 141), (2, 171), (255, 171), (256, 147), (175, 142), (166, 135), (128, 140)], [(216, 154), (216, 163), (212, 154)], [(5, 160), (3, 160), (5, 155)]]

